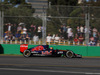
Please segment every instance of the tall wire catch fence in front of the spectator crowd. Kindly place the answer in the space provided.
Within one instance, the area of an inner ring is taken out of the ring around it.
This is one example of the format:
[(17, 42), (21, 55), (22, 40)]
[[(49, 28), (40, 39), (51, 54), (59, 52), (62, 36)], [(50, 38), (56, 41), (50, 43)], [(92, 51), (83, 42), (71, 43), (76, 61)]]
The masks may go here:
[(21, 8), (2, 6), (0, 43), (100, 46), (100, 7), (44, 6), (40, 16)]

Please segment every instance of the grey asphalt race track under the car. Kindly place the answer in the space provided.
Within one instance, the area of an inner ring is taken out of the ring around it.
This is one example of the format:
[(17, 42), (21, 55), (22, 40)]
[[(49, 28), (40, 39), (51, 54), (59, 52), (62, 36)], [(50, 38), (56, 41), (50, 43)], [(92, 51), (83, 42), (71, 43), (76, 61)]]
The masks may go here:
[(100, 58), (0, 56), (0, 75), (100, 75)]

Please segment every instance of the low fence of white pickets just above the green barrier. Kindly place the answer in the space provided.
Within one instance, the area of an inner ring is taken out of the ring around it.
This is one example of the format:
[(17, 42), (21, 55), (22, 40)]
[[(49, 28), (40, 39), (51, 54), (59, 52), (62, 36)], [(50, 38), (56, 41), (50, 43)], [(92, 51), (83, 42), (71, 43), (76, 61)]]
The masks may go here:
[[(3, 44), (29, 44), (29, 45), (41, 45), (42, 44), (42, 40), (38, 40), (38, 41), (33, 41), (33, 40), (5, 40), (3, 41)], [(80, 42), (77, 42), (75, 43), (74, 41), (73, 42), (70, 42), (70, 41), (67, 41), (67, 40), (59, 40), (59, 41), (56, 41), (56, 40), (53, 40), (51, 42), (46, 42), (47, 45), (83, 45), (83, 46), (86, 46), (85, 42), (83, 43), (80, 43)], [(97, 46), (100, 46), (99, 43), (97, 44)]]

